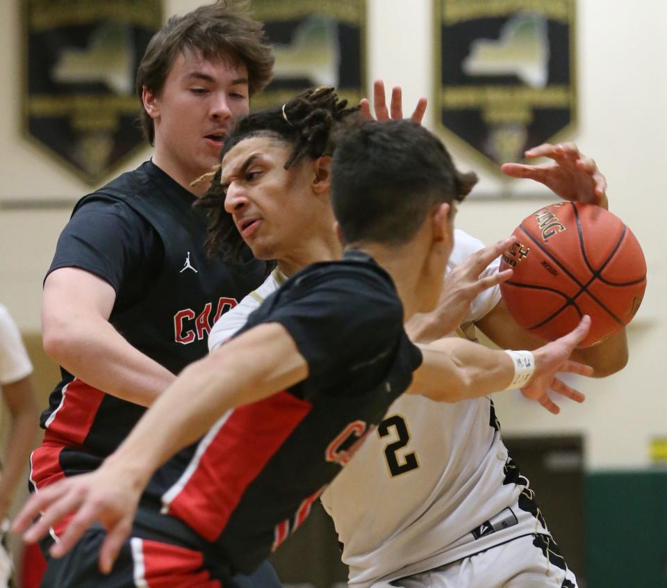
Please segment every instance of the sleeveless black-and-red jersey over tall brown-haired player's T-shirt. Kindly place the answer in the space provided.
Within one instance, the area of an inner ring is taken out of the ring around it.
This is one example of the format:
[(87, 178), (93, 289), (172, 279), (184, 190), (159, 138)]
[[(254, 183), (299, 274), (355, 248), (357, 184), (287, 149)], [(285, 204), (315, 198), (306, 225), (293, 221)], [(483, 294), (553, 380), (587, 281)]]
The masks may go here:
[[(206, 354), (213, 322), (261, 284), (265, 268), (250, 257), (240, 266), (208, 257), (206, 219), (192, 208), (194, 200), (147, 162), (83, 197), (72, 214), (89, 202), (120, 203), (158, 234), (164, 254), (154, 284), (135, 303), (116, 303), (109, 322), (133, 347), (172, 373)], [(31, 456), (33, 489), (97, 468), (145, 410), (62, 372), (63, 380), (42, 414), (44, 441)]]

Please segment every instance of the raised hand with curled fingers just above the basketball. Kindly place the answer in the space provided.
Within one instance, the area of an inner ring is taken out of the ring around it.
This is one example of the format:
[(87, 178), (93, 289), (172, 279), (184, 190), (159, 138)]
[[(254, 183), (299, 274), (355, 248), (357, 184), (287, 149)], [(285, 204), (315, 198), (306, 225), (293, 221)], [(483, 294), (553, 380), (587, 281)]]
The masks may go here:
[(553, 161), (537, 165), (504, 163), (500, 170), (513, 178), (529, 178), (545, 184), (566, 200), (593, 202), (607, 209), (607, 180), (595, 161), (579, 152), (574, 143), (543, 143), (525, 152), (527, 159), (548, 157)]

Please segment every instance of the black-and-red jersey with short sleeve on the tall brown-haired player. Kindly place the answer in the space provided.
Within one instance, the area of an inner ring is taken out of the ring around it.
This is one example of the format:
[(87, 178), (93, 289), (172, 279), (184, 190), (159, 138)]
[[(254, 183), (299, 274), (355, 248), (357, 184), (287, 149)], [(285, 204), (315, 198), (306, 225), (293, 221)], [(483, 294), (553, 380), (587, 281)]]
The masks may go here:
[[(261, 284), (265, 270), (252, 256), (238, 266), (208, 257), (206, 219), (194, 200), (144, 163), (76, 204), (49, 269), (81, 268), (107, 281), (116, 292), (110, 323), (172, 373), (206, 355), (213, 322)], [(96, 468), (144, 411), (62, 372), (32, 459), (38, 487)]]

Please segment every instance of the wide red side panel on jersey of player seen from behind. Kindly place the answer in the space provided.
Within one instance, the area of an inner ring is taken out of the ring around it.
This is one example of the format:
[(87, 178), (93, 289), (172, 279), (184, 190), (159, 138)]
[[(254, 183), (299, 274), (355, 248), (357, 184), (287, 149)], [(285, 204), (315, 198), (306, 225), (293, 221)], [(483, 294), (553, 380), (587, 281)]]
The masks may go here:
[[(201, 456), (168, 512), (215, 541), (245, 489), (311, 409), (283, 391), (235, 409)], [(252, 432), (252, 434), (249, 434)]]

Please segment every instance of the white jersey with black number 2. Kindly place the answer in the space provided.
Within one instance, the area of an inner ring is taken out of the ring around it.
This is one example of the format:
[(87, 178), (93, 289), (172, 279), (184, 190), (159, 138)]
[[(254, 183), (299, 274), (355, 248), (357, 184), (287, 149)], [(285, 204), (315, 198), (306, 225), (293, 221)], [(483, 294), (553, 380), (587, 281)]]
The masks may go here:
[[(454, 231), (447, 272), (481, 247), (479, 240)], [(497, 272), (499, 263), (491, 263), (484, 275)], [(209, 348), (244, 325), (279, 281), (276, 271), (224, 314), (211, 331)], [(499, 300), (497, 286), (481, 293), (462, 327), (486, 315)], [(367, 588), (515, 537), (547, 532), (529, 512), (527, 480), (515, 484), (515, 476), (489, 398), (456, 403), (419, 395), (398, 398), (377, 432), (322, 494), (343, 543), (349, 585)], [(523, 508), (518, 507), (521, 494)]]

